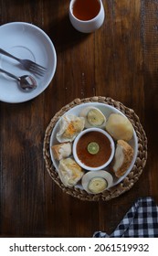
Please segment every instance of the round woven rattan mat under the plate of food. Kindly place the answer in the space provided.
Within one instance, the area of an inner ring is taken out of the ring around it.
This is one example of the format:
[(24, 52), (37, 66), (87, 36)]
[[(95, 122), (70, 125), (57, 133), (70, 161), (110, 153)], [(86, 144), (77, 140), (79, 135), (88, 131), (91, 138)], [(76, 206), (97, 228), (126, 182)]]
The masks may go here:
[[(118, 185), (111, 187), (110, 190), (105, 190), (103, 193), (97, 195), (90, 195), (85, 190), (82, 190), (77, 187), (65, 187), (58, 177), (58, 172), (56, 171), (49, 152), (49, 142), (52, 130), (56, 123), (58, 122), (59, 118), (65, 113), (68, 112), (69, 109), (83, 103), (87, 102), (101, 102), (104, 104), (109, 104), (116, 109), (120, 110), (124, 113), (129, 120), (132, 122), (134, 127), (135, 133), (138, 137), (138, 155), (135, 161), (135, 164), (132, 167), (132, 171), (126, 176), (121, 183)], [(146, 134), (143, 131), (142, 124), (140, 123), (139, 117), (135, 114), (132, 109), (125, 107), (120, 101), (114, 101), (111, 98), (106, 98), (102, 96), (95, 96), (86, 99), (75, 99), (71, 101), (68, 105), (64, 106), (59, 112), (55, 114), (55, 116), (51, 119), (50, 123), (47, 126), (47, 130), (45, 133), (44, 138), (44, 147), (43, 147), (43, 155), (46, 162), (47, 172), (51, 176), (51, 178), (58, 184), (63, 192), (71, 195), (72, 197), (78, 197), (81, 200), (88, 200), (88, 201), (108, 201), (114, 197), (119, 197), (122, 193), (128, 191), (132, 188), (134, 183), (139, 179), (142, 174), (142, 169), (146, 164), (147, 159), (147, 138)]]

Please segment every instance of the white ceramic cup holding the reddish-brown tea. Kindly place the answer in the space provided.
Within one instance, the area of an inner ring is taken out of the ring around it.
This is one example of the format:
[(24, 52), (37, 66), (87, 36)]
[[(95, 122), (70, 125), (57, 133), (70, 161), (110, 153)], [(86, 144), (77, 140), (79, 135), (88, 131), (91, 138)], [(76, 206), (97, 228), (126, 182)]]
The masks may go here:
[(69, 4), (69, 20), (73, 27), (75, 27), (79, 32), (91, 33), (101, 27), (104, 21), (105, 12), (102, 5), (102, 1), (98, 0), (100, 3), (100, 12), (97, 16), (90, 20), (80, 20), (73, 14), (73, 5), (76, 0), (71, 0)]

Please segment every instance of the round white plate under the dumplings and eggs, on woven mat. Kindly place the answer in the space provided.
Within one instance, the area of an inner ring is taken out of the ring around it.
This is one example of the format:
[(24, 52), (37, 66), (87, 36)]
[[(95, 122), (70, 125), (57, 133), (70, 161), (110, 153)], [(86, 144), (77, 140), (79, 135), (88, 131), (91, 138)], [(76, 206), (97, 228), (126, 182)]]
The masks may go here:
[[(76, 107), (73, 107), (71, 108), (68, 112), (66, 112), (65, 114), (75, 114), (75, 115), (79, 115), (79, 112), (83, 109), (83, 108), (86, 108), (87, 106), (93, 106), (93, 107), (96, 107), (96, 108), (99, 108), (101, 112), (103, 112), (103, 114), (106, 116), (106, 118), (108, 119), (109, 115), (111, 114), (111, 112), (115, 112), (115, 113), (120, 113), (121, 115), (124, 116), (124, 114), (122, 112), (120, 112), (118, 109), (112, 107), (111, 105), (108, 105), (108, 104), (104, 104), (104, 103), (100, 103), (100, 102), (89, 102), (89, 103), (83, 103), (83, 104), (80, 104), (79, 106), (76, 106)], [(58, 143), (58, 140), (56, 138), (56, 134), (58, 133), (58, 130), (59, 130), (59, 121), (58, 120), (58, 123), (56, 123), (52, 133), (51, 133), (51, 136), (50, 136), (50, 144), (49, 144), (49, 151), (50, 151), (50, 155), (51, 155), (51, 160), (53, 162), (53, 165), (55, 166), (56, 170), (58, 171), (58, 161), (54, 159), (54, 156), (52, 154), (52, 151), (51, 151), (51, 146), (53, 144), (59, 144)], [(138, 139), (137, 139), (137, 135), (135, 133), (135, 131), (133, 131), (133, 136), (132, 136), (132, 140), (130, 142), (128, 142), (132, 148), (133, 148), (133, 151), (134, 151), (134, 155), (133, 155), (133, 158), (132, 158), (132, 164), (129, 166), (127, 172), (125, 173), (124, 176), (121, 176), (120, 178), (117, 178), (115, 176), (113, 176), (113, 184), (111, 187), (119, 184), (124, 178), (125, 176), (127, 176), (131, 170), (132, 170), (132, 167), (136, 161), (136, 157), (137, 157), (137, 153), (138, 153)], [(109, 171), (109, 168), (105, 168), (106, 171)], [(76, 186), (76, 187), (80, 187), (80, 185)]]

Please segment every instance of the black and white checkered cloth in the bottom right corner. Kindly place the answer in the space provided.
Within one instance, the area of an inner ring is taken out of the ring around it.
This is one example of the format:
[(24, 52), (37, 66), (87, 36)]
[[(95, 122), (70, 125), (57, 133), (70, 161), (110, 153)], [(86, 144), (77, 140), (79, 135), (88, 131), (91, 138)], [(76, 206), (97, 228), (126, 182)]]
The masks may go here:
[(158, 238), (158, 207), (152, 197), (140, 197), (109, 236), (96, 231), (94, 238)]

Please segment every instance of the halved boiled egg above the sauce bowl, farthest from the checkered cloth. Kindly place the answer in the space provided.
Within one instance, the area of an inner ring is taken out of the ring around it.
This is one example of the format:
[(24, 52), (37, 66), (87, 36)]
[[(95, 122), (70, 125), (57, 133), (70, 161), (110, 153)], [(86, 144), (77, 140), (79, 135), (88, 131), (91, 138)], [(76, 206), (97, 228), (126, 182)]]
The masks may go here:
[(79, 112), (79, 116), (85, 118), (85, 127), (98, 127), (105, 128), (106, 117), (105, 115), (95, 107), (86, 107)]

